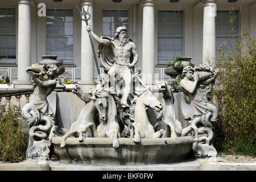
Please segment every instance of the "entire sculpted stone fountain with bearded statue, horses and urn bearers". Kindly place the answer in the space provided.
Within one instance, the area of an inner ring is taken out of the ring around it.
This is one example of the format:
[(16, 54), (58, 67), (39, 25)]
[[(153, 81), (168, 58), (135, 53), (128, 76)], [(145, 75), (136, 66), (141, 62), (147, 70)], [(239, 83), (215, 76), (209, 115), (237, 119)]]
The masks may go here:
[(138, 53), (126, 39), (127, 28), (118, 27), (115, 39), (98, 37), (86, 28), (99, 44), (106, 78), (97, 88), (74, 85), (72, 93), (55, 92), (58, 65), (36, 64), (26, 69), (35, 88), (22, 109), (30, 127), (27, 158), (48, 158), (50, 148), (61, 162), (82, 164), (172, 163), (183, 160), (191, 150), (200, 157), (217, 155), (211, 122), (217, 120), (218, 112), (209, 102), (216, 71), (184, 68), (180, 86), (191, 98), (190, 105), (179, 107), (188, 122), (184, 127), (175, 111), (171, 86), (162, 82), (159, 100), (143, 84), (141, 72), (134, 71)]

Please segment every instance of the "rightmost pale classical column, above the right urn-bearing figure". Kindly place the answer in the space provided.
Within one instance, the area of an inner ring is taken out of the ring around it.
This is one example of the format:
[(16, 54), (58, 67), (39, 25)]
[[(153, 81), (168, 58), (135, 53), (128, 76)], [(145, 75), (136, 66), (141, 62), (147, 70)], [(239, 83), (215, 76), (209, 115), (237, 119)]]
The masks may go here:
[(217, 0), (200, 1), (204, 4), (203, 64), (209, 65), (213, 63), (212, 58), (216, 55), (215, 16)]

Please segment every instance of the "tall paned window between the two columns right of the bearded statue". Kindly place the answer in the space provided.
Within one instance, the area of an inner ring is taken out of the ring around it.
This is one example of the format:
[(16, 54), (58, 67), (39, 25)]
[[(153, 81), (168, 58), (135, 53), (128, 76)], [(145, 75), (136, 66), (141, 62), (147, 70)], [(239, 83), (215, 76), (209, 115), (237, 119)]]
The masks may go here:
[(183, 11), (158, 11), (158, 64), (183, 56)]

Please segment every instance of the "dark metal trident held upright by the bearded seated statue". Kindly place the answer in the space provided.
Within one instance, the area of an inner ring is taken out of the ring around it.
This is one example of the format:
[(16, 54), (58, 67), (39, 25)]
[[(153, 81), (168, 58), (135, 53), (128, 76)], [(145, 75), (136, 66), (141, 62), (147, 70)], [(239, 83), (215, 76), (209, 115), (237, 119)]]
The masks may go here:
[[(85, 21), (86, 26), (88, 26), (88, 20), (90, 19), (90, 14), (89, 14), (89, 10), (88, 10), (89, 9), (89, 5), (88, 5), (87, 11), (84, 10), (84, 6), (82, 6), (82, 12), (80, 11), (78, 6), (76, 6), (76, 8), (80, 12), (80, 19)], [(87, 18), (86, 15), (88, 15), (89, 18)], [(84, 16), (84, 18), (82, 18), (82, 16)], [(101, 78), (101, 74), (100, 74), (100, 69), (98, 68), (98, 61), (97, 61), (96, 53), (95, 53), (94, 46), (93, 46), (92, 35), (90, 35), (90, 32), (88, 32), (88, 34), (89, 34), (89, 38), (90, 38), (90, 45), (92, 46), (92, 49), (93, 49), (93, 55), (94, 55), (94, 60), (95, 60), (97, 71), (98, 71), (98, 76), (100, 77), (101, 86), (103, 87), (102, 78)]]

